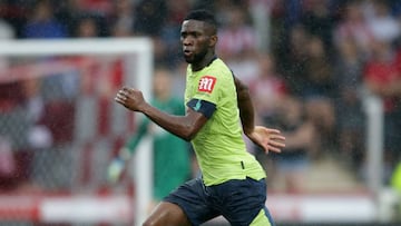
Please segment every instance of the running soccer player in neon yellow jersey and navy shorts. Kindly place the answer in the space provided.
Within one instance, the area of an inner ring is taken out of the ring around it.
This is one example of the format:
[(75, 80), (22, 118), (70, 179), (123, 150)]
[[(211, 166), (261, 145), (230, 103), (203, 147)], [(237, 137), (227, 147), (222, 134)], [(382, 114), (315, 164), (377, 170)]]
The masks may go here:
[(266, 153), (280, 153), (285, 138), (278, 130), (254, 125), (247, 88), (216, 57), (216, 33), (214, 16), (204, 10), (189, 12), (182, 23), (180, 41), (189, 63), (185, 116), (153, 107), (137, 89), (125, 87), (115, 98), (167, 131), (190, 140), (202, 171), (202, 177), (165, 197), (145, 220), (146, 226), (200, 225), (221, 215), (232, 225), (274, 225), (265, 206), (265, 171), (246, 150), (242, 135)]

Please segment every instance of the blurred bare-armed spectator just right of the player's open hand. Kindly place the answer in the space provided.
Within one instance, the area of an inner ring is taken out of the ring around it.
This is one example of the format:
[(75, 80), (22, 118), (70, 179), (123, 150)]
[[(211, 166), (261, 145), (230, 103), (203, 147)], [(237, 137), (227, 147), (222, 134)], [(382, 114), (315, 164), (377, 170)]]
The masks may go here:
[(307, 118), (301, 99), (286, 96), (278, 108), (277, 118), (271, 125), (280, 128), (286, 141), (285, 149), (281, 154), (273, 154), (271, 164), (274, 170), (271, 174), (271, 180), (273, 187), (280, 187), (280, 181), (282, 181), (281, 189), (285, 193), (304, 193), (304, 174), (310, 166), (311, 154), (320, 149), (319, 130)]

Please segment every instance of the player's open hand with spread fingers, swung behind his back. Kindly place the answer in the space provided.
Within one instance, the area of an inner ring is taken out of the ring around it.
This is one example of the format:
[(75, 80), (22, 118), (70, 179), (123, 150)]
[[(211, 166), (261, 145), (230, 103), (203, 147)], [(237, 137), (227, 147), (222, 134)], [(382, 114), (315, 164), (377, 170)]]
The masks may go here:
[(255, 126), (254, 130), (246, 135), (255, 145), (268, 151), (281, 153), (285, 147), (285, 137), (277, 129), (270, 129), (263, 126)]

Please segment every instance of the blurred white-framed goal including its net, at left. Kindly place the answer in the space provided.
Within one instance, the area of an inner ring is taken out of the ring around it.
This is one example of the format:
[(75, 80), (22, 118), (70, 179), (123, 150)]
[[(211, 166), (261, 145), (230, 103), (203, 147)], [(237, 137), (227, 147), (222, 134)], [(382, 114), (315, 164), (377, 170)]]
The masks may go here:
[(0, 42), (0, 224), (139, 225), (151, 194), (150, 141), (117, 185), (106, 170), (151, 98), (147, 38)]

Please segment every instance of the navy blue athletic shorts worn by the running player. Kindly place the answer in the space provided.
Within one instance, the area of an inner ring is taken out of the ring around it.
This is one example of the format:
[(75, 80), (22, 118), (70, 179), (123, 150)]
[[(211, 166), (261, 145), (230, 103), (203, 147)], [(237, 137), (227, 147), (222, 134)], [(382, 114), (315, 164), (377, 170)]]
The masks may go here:
[(164, 202), (178, 205), (195, 226), (221, 215), (233, 226), (274, 225), (265, 206), (265, 179), (205, 186), (202, 178), (195, 178), (173, 190)]

